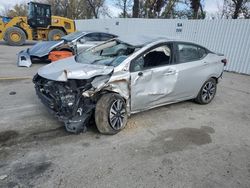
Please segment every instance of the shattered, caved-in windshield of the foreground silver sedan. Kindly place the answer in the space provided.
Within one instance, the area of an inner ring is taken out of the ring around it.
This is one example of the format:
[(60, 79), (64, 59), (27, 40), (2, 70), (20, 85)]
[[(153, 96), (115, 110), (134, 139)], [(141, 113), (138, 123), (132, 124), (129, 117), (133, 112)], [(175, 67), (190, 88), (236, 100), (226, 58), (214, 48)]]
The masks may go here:
[(76, 61), (79, 63), (116, 67), (134, 51), (135, 47), (112, 40), (78, 54)]

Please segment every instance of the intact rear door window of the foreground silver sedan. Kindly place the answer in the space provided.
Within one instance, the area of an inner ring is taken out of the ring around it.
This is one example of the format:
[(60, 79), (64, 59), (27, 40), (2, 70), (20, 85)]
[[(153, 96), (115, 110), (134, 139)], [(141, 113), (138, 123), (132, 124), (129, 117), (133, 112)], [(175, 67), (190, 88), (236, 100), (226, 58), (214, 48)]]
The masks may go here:
[(196, 61), (206, 56), (207, 52), (204, 48), (201, 48), (192, 44), (178, 44), (179, 63), (185, 63), (190, 61)]

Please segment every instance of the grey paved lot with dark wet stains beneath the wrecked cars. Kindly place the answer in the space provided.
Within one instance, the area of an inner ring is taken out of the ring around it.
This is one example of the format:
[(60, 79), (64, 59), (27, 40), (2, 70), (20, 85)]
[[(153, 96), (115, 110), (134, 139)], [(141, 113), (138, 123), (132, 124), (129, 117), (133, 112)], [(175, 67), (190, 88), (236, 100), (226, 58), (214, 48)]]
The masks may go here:
[[(133, 115), (117, 135), (67, 133), (0, 42), (0, 187), (250, 187), (250, 76), (225, 73), (209, 105)], [(230, 63), (230, 62), (229, 62)], [(3, 77), (18, 79), (2, 79)]]

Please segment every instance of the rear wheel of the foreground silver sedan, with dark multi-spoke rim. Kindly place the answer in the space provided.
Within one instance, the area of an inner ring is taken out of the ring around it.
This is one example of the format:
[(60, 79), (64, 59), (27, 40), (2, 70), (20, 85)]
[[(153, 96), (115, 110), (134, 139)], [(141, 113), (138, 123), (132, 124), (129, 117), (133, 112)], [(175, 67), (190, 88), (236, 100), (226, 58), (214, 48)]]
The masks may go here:
[(217, 90), (216, 80), (213, 78), (208, 79), (200, 89), (199, 94), (195, 98), (195, 102), (199, 104), (208, 104), (210, 103)]

